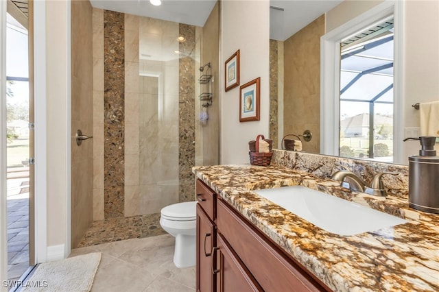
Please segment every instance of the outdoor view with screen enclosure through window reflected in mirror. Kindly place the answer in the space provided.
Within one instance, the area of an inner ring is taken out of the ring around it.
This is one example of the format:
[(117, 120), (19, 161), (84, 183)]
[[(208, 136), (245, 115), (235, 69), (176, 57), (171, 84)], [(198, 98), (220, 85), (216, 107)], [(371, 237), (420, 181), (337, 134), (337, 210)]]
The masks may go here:
[(341, 43), (340, 156), (393, 162), (393, 19)]

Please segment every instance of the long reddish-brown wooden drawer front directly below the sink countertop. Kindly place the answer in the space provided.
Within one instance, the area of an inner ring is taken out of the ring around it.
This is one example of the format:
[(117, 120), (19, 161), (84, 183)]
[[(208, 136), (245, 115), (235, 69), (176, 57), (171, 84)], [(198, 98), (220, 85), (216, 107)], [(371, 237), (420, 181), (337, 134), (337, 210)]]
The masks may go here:
[(264, 291), (327, 290), (222, 199), (217, 200), (217, 232), (227, 239)]

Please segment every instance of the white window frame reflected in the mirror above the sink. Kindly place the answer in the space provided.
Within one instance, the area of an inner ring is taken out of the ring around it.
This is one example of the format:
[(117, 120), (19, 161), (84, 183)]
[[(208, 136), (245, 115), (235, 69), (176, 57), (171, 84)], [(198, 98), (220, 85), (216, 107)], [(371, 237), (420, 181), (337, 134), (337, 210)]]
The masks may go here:
[(320, 38), (320, 153), (337, 156), (340, 147), (340, 42), (394, 15), (394, 163), (403, 162), (403, 3), (384, 1)]

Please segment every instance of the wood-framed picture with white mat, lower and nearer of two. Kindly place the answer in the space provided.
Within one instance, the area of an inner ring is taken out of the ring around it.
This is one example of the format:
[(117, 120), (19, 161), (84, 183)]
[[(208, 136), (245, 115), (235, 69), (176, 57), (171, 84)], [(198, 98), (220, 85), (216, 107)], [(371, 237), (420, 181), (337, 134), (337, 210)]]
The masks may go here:
[(259, 121), (261, 77), (239, 88), (239, 121)]

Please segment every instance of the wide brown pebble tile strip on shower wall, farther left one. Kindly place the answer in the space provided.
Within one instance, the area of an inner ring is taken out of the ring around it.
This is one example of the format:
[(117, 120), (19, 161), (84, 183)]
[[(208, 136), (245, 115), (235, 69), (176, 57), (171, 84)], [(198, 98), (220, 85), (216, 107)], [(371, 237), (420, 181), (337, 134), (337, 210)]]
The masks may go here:
[(104, 215), (123, 217), (125, 36), (123, 13), (104, 10)]

